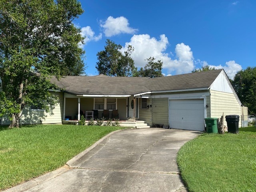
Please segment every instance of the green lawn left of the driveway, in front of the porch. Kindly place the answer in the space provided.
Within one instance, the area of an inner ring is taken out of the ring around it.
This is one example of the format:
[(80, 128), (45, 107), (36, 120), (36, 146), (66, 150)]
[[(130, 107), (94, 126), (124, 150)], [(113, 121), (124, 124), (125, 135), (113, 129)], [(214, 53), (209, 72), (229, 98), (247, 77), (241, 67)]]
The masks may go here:
[(63, 166), (113, 126), (36, 125), (0, 127), (0, 190)]

